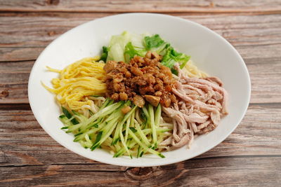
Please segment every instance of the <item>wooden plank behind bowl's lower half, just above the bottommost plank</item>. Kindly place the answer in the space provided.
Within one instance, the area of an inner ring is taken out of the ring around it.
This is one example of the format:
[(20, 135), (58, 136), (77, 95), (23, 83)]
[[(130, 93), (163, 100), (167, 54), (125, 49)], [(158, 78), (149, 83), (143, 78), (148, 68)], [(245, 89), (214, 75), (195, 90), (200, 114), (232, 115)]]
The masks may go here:
[[(197, 158), (281, 155), (281, 106), (250, 106), (237, 129)], [(44, 132), (32, 111), (0, 111), (0, 168), (21, 165), (96, 163), (83, 158)]]

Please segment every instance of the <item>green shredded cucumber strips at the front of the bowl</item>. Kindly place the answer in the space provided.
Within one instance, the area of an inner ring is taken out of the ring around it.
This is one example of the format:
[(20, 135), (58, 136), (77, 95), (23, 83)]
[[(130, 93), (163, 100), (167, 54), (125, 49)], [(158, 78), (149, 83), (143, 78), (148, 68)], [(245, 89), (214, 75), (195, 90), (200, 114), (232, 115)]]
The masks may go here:
[[(131, 111), (126, 114), (122, 113), (125, 106), (131, 106)], [(65, 108), (64, 114), (59, 118), (65, 124), (63, 129), (74, 134), (74, 141), (79, 142), (84, 148), (90, 148), (91, 151), (107, 147), (115, 151), (113, 157), (125, 154), (130, 158), (133, 156), (140, 158), (144, 153), (152, 153), (164, 158), (164, 155), (155, 149), (163, 140), (162, 133), (171, 129), (159, 127), (161, 106), (153, 107), (150, 104), (144, 106), (141, 112), (146, 120), (140, 120), (141, 117), (136, 120), (136, 113), (141, 116), (137, 109), (138, 106), (133, 106), (131, 102), (113, 103), (111, 99), (106, 99), (100, 110), (89, 118), (77, 111), (67, 111)], [(72, 122), (74, 119), (77, 124)], [(145, 121), (148, 125), (140, 124), (138, 121)]]

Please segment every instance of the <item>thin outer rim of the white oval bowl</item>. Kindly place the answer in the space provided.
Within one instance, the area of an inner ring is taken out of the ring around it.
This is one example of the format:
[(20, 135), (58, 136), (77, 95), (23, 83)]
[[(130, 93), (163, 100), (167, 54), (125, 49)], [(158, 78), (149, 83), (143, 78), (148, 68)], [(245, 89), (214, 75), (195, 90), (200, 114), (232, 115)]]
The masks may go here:
[[(223, 134), (223, 136), (220, 138), (220, 141), (216, 142), (216, 144), (213, 144), (212, 146), (207, 147), (206, 149), (204, 149), (204, 151), (200, 151), (199, 153), (197, 153), (196, 155), (189, 157), (189, 158), (178, 158), (178, 159), (174, 159), (174, 160), (166, 160), (166, 162), (163, 162), (161, 164), (157, 163), (157, 162), (151, 162), (150, 164), (143, 164), (143, 165), (134, 165), (134, 164), (126, 164), (126, 163), (117, 163), (116, 161), (111, 161), (111, 160), (105, 160), (103, 158), (96, 158), (95, 160), (98, 162), (103, 162), (103, 163), (107, 163), (107, 164), (111, 164), (111, 165), (119, 165), (119, 166), (124, 166), (124, 167), (153, 167), (153, 166), (159, 166), (159, 165), (170, 165), (170, 164), (174, 164), (177, 162), (182, 162), (184, 160), (189, 160), (191, 158), (195, 158), (198, 155), (201, 155), (202, 153), (206, 153), (207, 151), (209, 151), (211, 148), (214, 148), (215, 146), (217, 146), (218, 144), (221, 144), (221, 142), (223, 140), (225, 140), (235, 129), (236, 127), (241, 123), (242, 118), (244, 118), (245, 113), (247, 112), (247, 108), (249, 106), (249, 101), (250, 101), (250, 97), (251, 97), (251, 80), (250, 80), (250, 76), (249, 76), (249, 71), (247, 69), (246, 64), (244, 63), (244, 60), (242, 59), (241, 55), (237, 52), (237, 50), (226, 40), (223, 38), (223, 36), (217, 34), (216, 32), (214, 32), (213, 30), (204, 27), (203, 25), (200, 25), (197, 22), (193, 22), (184, 18), (179, 18), (176, 16), (172, 16), (172, 15), (165, 15), (165, 14), (160, 14), (160, 13), (122, 13), (122, 14), (117, 14), (117, 15), (110, 15), (110, 16), (105, 16), (103, 18), (97, 18), (95, 20), (91, 20), (89, 22), (85, 22), (81, 25), (78, 25), (77, 27), (74, 27), (70, 30), (68, 30), (67, 32), (63, 33), (62, 35), (58, 36), (58, 38), (56, 38), (55, 40), (53, 40), (51, 43), (48, 44), (48, 46), (46, 46), (46, 48), (41, 52), (41, 54), (39, 55), (39, 57), (37, 58), (37, 60), (34, 62), (34, 65), (32, 67), (32, 70), (30, 72), (30, 78), (28, 81), (28, 99), (30, 102), (30, 107), (32, 109), (32, 112), (34, 113), (34, 117), (37, 119), (38, 123), (41, 125), (43, 124), (43, 122), (37, 117), (39, 116), (39, 114), (37, 113), (37, 111), (35, 110), (35, 106), (34, 103), (32, 102), (31, 99), (31, 93), (30, 93), (30, 86), (31, 86), (31, 77), (34, 74), (34, 67), (36, 67), (36, 64), (39, 63), (41, 56), (46, 52), (46, 49), (50, 48), (51, 46), (53, 46), (53, 44), (55, 43), (55, 41), (58, 41), (58, 39), (63, 38), (67, 33), (69, 32), (73, 32), (76, 29), (79, 29), (80, 27), (83, 27), (84, 25), (90, 24), (91, 22), (95, 22), (96, 20), (103, 20), (103, 19), (108, 19), (108, 18), (112, 18), (112, 17), (123, 17), (123, 16), (129, 16), (129, 15), (136, 15), (136, 16), (141, 16), (141, 15), (147, 15), (147, 16), (159, 16), (159, 17), (166, 17), (166, 18), (174, 18), (175, 20), (181, 20), (183, 22), (189, 22), (192, 25), (197, 25), (197, 27), (201, 27), (202, 29), (207, 30), (208, 32), (211, 32), (212, 34), (216, 35), (216, 37), (218, 37), (218, 39), (221, 39), (222, 41), (224, 41), (224, 43), (226, 45), (228, 45), (233, 52), (235, 53), (235, 55), (237, 55), (238, 59), (240, 60), (240, 62), (242, 63), (242, 67), (244, 68), (244, 70), (247, 73), (247, 84), (248, 84), (248, 92), (247, 95), (245, 95), (245, 97), (247, 98), (247, 102), (244, 103), (244, 110), (242, 111), (242, 115), (240, 116), (240, 118), (237, 120), (237, 124), (233, 126), (233, 128), (231, 130), (229, 130), (228, 133)], [(67, 148), (68, 150), (77, 153), (78, 155), (81, 155), (85, 158), (89, 158), (91, 160), (93, 160), (93, 158), (90, 158), (88, 155), (85, 155), (84, 153), (80, 153), (79, 151), (75, 151), (73, 148), (71, 148), (70, 146), (68, 146), (64, 141), (60, 141), (60, 139), (58, 139), (57, 137), (53, 136), (52, 134), (50, 134), (46, 128), (44, 127), (44, 125), (41, 125), (41, 127), (45, 130), (45, 132), (47, 132), (47, 134), (49, 136), (51, 136), (55, 141), (57, 141), (60, 145), (64, 146), (65, 148)]]

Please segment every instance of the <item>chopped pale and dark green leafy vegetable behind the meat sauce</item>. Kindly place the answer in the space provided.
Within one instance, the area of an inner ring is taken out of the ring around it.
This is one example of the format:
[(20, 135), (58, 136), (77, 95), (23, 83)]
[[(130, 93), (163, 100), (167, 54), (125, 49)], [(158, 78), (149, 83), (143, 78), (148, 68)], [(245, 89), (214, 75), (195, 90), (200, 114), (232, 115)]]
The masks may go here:
[(180, 64), (182, 69), (186, 62), (190, 60), (190, 56), (178, 53), (159, 34), (148, 36), (148, 34), (131, 34), (129, 32), (112, 36), (108, 48), (103, 47), (101, 60), (105, 60), (107, 56), (106, 62), (115, 60), (128, 63), (135, 55), (144, 57), (148, 50), (162, 55), (162, 64), (169, 67), (173, 74), (177, 74), (177, 71), (174, 69), (176, 62)]

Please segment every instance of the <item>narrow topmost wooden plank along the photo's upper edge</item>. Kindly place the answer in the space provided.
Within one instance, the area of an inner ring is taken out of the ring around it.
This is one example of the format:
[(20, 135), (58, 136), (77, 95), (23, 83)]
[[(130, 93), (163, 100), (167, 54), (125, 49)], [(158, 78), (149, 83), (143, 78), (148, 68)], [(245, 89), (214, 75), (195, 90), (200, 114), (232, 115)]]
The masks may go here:
[(67, 11), (67, 12), (186, 12), (186, 13), (241, 13), (280, 12), (277, 0), (263, 1), (219, 1), (219, 0), (177, 0), (177, 1), (74, 1), (74, 0), (1, 0), (0, 11)]

